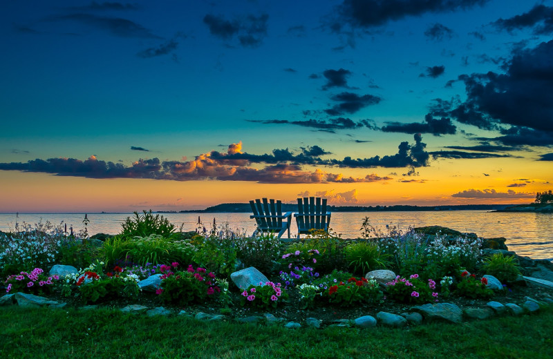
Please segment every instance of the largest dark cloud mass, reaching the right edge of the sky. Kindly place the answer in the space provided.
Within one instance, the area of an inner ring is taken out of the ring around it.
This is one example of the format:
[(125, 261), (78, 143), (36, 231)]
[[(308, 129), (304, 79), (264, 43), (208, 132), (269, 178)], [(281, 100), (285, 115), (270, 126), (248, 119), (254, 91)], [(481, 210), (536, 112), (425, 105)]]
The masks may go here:
[(527, 132), (519, 128), (525, 126), (544, 132), (541, 137), (552, 137), (553, 40), (536, 48), (513, 50), (505, 68), (505, 74), (490, 71), (461, 75), (467, 100), (451, 115), (459, 122), (483, 129), (506, 124), (518, 126), (516, 132)]

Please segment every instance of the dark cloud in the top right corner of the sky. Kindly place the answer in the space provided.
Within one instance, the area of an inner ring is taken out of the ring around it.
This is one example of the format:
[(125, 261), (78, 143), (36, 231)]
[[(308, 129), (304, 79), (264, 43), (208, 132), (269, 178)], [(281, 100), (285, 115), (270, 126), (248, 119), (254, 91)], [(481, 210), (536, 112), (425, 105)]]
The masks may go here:
[(553, 8), (543, 4), (535, 5), (529, 12), (509, 19), (498, 19), (491, 25), (498, 30), (507, 30), (508, 32), (533, 28), (536, 35), (550, 35), (553, 32)]

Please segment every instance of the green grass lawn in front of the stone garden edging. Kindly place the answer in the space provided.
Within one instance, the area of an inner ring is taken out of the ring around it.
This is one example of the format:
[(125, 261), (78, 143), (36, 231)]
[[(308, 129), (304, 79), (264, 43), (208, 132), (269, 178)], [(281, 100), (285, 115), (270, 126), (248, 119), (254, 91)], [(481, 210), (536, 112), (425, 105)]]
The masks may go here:
[(553, 358), (553, 309), (409, 329), (285, 329), (111, 309), (0, 308), (0, 358)]

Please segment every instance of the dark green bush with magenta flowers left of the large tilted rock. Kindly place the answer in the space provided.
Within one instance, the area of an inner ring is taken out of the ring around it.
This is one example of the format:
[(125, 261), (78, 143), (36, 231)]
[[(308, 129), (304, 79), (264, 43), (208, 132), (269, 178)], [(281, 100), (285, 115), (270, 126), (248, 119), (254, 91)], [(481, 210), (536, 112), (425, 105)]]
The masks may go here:
[(203, 303), (221, 291), (216, 284), (214, 273), (207, 273), (200, 267), (194, 269), (189, 266), (187, 271), (176, 273), (165, 271), (161, 278), (161, 289), (157, 293), (163, 302), (178, 305), (187, 305), (192, 302)]

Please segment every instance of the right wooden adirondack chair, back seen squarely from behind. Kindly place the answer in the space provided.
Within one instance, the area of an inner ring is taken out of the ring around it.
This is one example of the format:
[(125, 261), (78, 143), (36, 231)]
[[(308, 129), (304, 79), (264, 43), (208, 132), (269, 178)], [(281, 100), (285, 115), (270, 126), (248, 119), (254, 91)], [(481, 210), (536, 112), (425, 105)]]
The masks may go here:
[(312, 229), (328, 232), (330, 212), (326, 211), (326, 198), (298, 198), (298, 213), (294, 213), (294, 217), (298, 225), (298, 238), (301, 234), (308, 234)]

